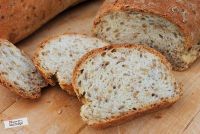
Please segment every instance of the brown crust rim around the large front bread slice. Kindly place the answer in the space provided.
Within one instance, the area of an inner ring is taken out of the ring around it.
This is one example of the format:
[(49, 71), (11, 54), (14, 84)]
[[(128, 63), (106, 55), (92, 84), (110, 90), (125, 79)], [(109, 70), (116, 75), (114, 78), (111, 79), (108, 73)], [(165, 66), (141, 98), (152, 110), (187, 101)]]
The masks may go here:
[[(110, 50), (110, 49), (117, 49), (117, 48), (129, 48), (129, 49), (130, 48), (137, 48), (137, 49), (142, 50), (142, 51), (148, 51), (148, 52), (158, 56), (161, 59), (161, 62), (164, 65), (166, 65), (166, 67), (169, 69), (169, 71), (170, 72), (172, 71), (171, 70), (171, 65), (166, 60), (166, 58), (162, 54), (160, 54), (158, 51), (156, 51), (156, 50), (154, 50), (152, 48), (149, 48), (147, 46), (143, 46), (143, 45), (110, 45), (110, 46), (107, 46), (107, 47), (103, 47), (103, 48), (98, 48), (98, 49), (92, 50), (92, 51), (88, 52), (87, 54), (85, 54), (77, 62), (76, 66), (75, 66), (75, 68), (73, 70), (72, 85), (74, 87), (74, 91), (75, 91), (76, 95), (78, 96), (79, 100), (83, 104), (87, 103), (87, 101), (85, 100), (85, 98), (82, 98), (83, 96), (81, 96), (81, 94), (79, 93), (79, 88), (76, 85), (77, 77), (80, 74), (81, 67), (85, 64), (85, 62), (88, 59), (96, 56), (97, 54), (102, 53), (102, 52), (107, 51), (107, 50)], [(172, 75), (172, 73), (171, 73), (171, 75)], [(123, 123), (125, 121), (131, 120), (133, 118), (136, 118), (136, 117), (138, 117), (140, 115), (143, 115), (145, 113), (149, 113), (149, 112), (152, 112), (152, 111), (157, 111), (159, 109), (168, 107), (168, 106), (174, 104), (182, 96), (182, 88), (181, 88), (181, 86), (179, 86), (179, 85), (176, 86), (176, 92), (177, 92), (178, 95), (176, 97), (172, 98), (172, 99), (162, 100), (158, 104), (154, 104), (152, 106), (147, 106), (147, 107), (145, 107), (143, 109), (140, 109), (138, 111), (130, 111), (130, 112), (124, 113), (123, 115), (114, 117), (112, 119), (108, 119), (105, 122), (99, 122), (99, 123), (90, 124), (90, 125), (92, 127), (95, 127), (95, 128), (105, 128), (105, 127), (109, 127), (109, 126), (114, 126), (114, 125), (117, 125), (117, 124), (121, 124), (121, 123)]]

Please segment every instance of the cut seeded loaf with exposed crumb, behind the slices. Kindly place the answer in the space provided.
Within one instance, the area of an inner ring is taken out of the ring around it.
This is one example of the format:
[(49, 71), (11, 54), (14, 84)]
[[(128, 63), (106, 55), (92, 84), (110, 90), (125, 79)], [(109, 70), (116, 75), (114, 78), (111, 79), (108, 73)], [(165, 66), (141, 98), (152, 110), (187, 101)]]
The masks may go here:
[(198, 0), (106, 0), (94, 33), (114, 44), (147, 44), (174, 70), (186, 70), (200, 55)]

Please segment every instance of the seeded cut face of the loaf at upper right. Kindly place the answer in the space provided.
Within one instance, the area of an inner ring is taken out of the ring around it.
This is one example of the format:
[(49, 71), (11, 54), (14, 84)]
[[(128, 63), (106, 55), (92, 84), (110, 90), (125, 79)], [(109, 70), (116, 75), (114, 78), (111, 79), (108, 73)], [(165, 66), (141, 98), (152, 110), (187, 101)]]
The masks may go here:
[(200, 43), (186, 47), (181, 28), (152, 12), (113, 7), (97, 17), (94, 33), (112, 44), (147, 44), (164, 54), (174, 70), (187, 69), (200, 55)]

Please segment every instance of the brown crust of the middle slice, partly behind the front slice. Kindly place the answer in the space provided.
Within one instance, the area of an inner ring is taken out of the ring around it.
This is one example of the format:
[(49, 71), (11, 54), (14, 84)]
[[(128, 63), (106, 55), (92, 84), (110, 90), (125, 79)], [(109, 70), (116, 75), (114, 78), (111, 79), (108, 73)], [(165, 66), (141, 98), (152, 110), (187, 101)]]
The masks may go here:
[[(36, 68), (38, 69), (38, 71), (45, 78), (46, 82), (49, 83), (52, 86), (54, 86), (57, 83), (57, 78), (55, 76), (56, 74), (51, 74), (40, 66), (39, 53), (44, 48), (45, 45), (48, 45), (48, 42), (50, 40), (54, 40), (54, 39), (59, 38), (60, 36), (65, 36), (65, 35), (81, 35), (81, 36), (84, 36), (84, 37), (88, 37), (86, 34), (79, 34), (79, 33), (64, 33), (64, 34), (61, 34), (61, 35), (50, 37), (50, 38), (48, 38), (45, 41), (40, 43), (39, 47), (37, 48), (37, 50), (35, 52), (35, 56), (33, 58), (34, 64), (35, 64)], [(92, 38), (96, 38), (96, 37), (92, 37)], [(61, 86), (61, 88), (63, 90), (67, 91), (70, 95), (74, 95), (74, 96), (76, 95), (74, 93), (74, 90), (73, 90), (71, 83), (59, 83), (59, 85)]]

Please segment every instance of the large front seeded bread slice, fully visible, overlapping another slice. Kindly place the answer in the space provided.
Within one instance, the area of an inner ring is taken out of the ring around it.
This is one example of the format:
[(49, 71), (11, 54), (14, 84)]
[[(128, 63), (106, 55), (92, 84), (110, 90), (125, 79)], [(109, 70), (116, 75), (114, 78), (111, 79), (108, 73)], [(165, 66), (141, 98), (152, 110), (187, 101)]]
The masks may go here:
[(72, 83), (82, 119), (100, 128), (170, 106), (182, 95), (165, 57), (141, 45), (92, 50), (77, 63)]

